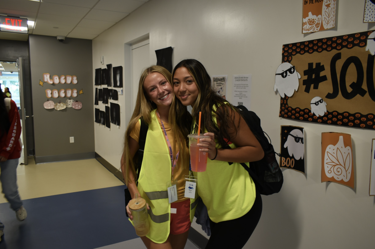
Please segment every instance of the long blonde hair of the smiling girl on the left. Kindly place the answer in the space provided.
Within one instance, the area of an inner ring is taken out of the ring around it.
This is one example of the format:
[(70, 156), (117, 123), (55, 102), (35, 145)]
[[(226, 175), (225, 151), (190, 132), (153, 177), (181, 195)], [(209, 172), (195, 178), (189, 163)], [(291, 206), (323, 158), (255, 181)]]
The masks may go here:
[[(125, 183), (127, 184), (129, 181), (132, 182), (132, 180), (134, 179), (130, 179), (129, 177), (129, 172), (131, 171), (133, 173), (134, 176), (136, 176), (136, 170), (135, 170), (135, 162), (133, 160), (133, 158), (130, 158), (129, 156), (127, 155), (130, 155), (130, 148), (129, 148), (129, 137), (130, 137), (130, 133), (132, 132), (132, 130), (134, 129), (136, 123), (138, 122), (139, 118), (143, 118), (143, 120), (147, 123), (147, 124), (151, 124), (151, 111), (156, 109), (156, 104), (155, 103), (152, 103), (148, 97), (147, 97), (147, 94), (145, 93), (144, 89), (143, 89), (143, 84), (144, 84), (144, 81), (146, 79), (146, 77), (148, 75), (150, 75), (151, 73), (160, 73), (161, 75), (163, 75), (165, 77), (165, 79), (168, 81), (168, 83), (172, 86), (171, 82), (172, 82), (172, 75), (171, 73), (169, 73), (168, 70), (166, 70), (164, 67), (161, 67), (161, 66), (150, 66), (148, 67), (147, 69), (145, 69), (143, 72), (142, 72), (142, 75), (141, 75), (141, 78), (139, 78), (139, 84), (138, 84), (138, 94), (137, 94), (137, 99), (136, 99), (136, 103), (135, 103), (135, 108), (134, 108), (134, 112), (132, 114), (132, 117), (130, 118), (130, 121), (129, 121), (129, 124), (126, 128), (126, 132), (125, 132), (125, 144), (124, 144), (124, 163), (126, 163), (126, 177), (125, 177)], [(172, 86), (172, 89), (173, 89), (173, 86)], [(174, 101), (174, 94), (173, 94), (173, 101)], [(175, 113), (172, 113), (171, 111), (169, 111), (169, 120), (173, 120), (174, 119), (174, 116), (175, 116)], [(178, 129), (177, 129), (178, 130)], [(175, 134), (173, 133), (174, 137), (177, 138), (177, 137), (180, 137), (180, 134), (176, 134), (177, 136), (175, 136)], [(180, 143), (178, 143), (178, 141), (180, 141), (180, 139), (174, 139), (174, 141), (177, 142), (178, 145), (180, 145)], [(183, 147), (180, 147), (180, 148), (183, 148)], [(180, 157), (182, 158), (186, 158), (186, 150), (183, 149), (183, 150), (180, 150)]]

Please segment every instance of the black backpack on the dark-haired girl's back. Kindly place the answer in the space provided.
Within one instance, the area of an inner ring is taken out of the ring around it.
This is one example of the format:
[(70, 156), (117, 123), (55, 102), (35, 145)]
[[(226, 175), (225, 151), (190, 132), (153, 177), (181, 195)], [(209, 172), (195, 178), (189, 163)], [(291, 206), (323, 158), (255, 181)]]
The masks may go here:
[[(267, 139), (269, 136), (260, 126), (260, 118), (255, 112), (249, 111), (245, 106), (236, 106), (236, 108), (245, 119), (264, 151), (262, 160), (249, 163), (249, 167), (245, 163), (241, 163), (241, 165), (249, 172), (260, 194), (272, 195), (278, 193), (282, 187), (284, 178), (279, 163), (276, 160), (275, 154), (277, 153), (273, 149), (271, 139), (269, 142)], [(229, 145), (224, 148), (230, 149)], [(229, 163), (229, 165), (231, 164), (233, 163)]]

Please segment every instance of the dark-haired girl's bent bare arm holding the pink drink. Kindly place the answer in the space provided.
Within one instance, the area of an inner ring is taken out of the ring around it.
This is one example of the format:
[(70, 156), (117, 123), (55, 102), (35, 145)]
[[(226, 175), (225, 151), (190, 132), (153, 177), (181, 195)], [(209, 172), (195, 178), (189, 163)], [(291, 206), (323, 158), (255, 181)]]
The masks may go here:
[[(229, 107), (227, 107), (229, 108)], [(201, 139), (199, 146), (204, 147), (200, 151), (208, 152), (208, 158), (213, 159), (216, 155), (215, 160), (233, 162), (233, 163), (246, 163), (259, 161), (264, 157), (264, 151), (258, 139), (251, 132), (246, 121), (239, 115), (238, 112), (229, 109), (229, 116), (234, 120), (233, 123), (229, 124), (229, 136), (230, 141), (234, 143), (237, 148), (235, 149), (217, 149), (214, 142), (213, 133), (205, 133), (204, 135), (210, 136), (210, 139)], [(237, 134), (236, 127), (238, 125)], [(217, 120), (217, 125), (220, 127), (220, 121)]]

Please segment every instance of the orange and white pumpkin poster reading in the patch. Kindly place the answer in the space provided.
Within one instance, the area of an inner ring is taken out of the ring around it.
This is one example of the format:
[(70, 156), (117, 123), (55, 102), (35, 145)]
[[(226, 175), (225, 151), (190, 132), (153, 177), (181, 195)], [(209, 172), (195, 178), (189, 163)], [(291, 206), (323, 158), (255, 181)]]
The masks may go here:
[(302, 0), (302, 33), (334, 28), (337, 0)]

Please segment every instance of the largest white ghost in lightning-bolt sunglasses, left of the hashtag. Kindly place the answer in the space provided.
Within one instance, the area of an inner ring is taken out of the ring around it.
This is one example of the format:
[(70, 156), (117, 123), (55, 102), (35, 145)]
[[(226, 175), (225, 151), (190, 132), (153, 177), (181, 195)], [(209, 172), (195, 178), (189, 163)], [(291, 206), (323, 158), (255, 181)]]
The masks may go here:
[(299, 81), (301, 75), (296, 71), (295, 67), (288, 63), (281, 63), (276, 70), (275, 74), (275, 86), (273, 86), (273, 91), (278, 90), (282, 98), (287, 95), (291, 97), (294, 91), (298, 90)]

